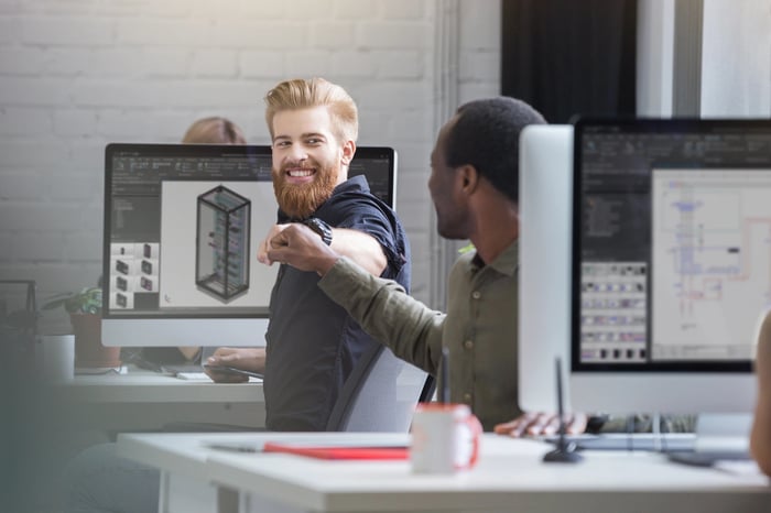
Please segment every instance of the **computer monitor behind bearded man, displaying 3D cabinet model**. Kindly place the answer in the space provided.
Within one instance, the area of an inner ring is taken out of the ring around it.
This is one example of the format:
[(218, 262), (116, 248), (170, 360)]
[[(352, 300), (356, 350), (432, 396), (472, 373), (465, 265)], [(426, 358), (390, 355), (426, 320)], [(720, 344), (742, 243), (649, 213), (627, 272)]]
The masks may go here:
[[(356, 151), (349, 175), (395, 198), (397, 154)], [(126, 144), (105, 152), (102, 343), (263, 346), (278, 265), (257, 245), (278, 205), (268, 145)]]

